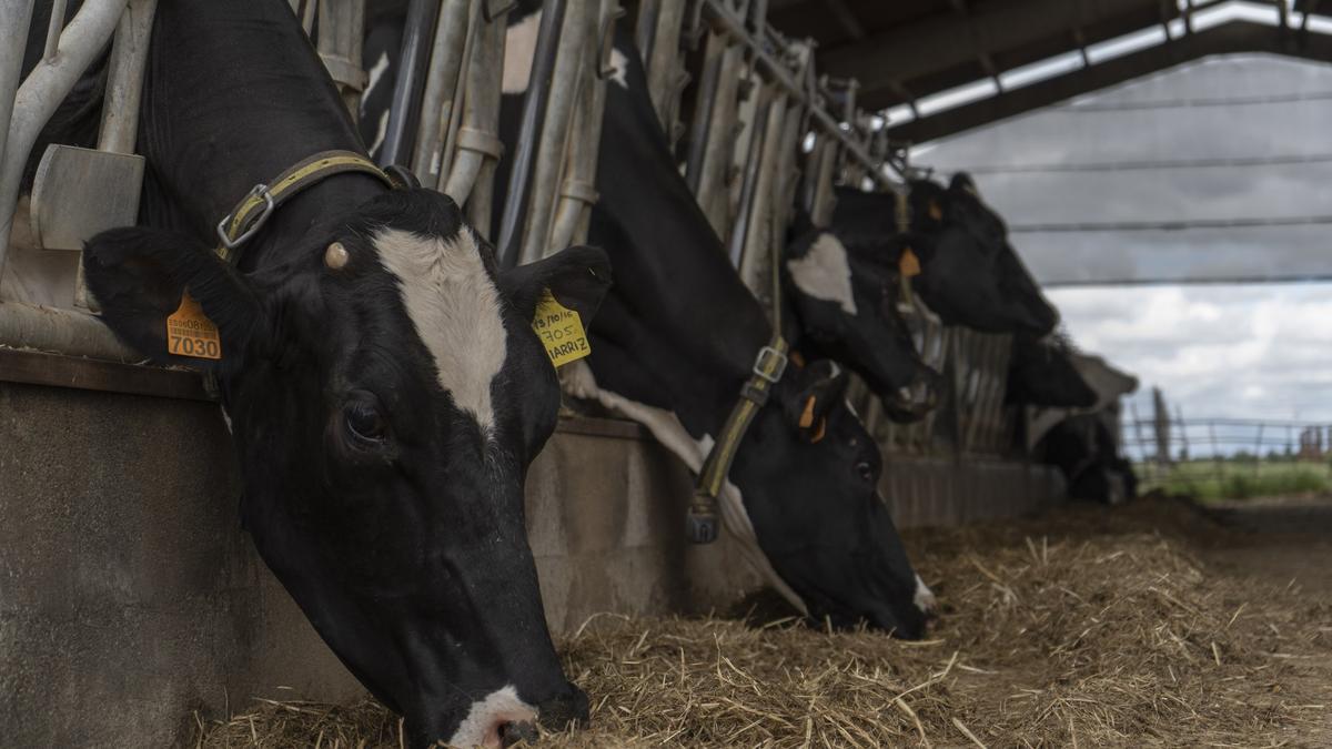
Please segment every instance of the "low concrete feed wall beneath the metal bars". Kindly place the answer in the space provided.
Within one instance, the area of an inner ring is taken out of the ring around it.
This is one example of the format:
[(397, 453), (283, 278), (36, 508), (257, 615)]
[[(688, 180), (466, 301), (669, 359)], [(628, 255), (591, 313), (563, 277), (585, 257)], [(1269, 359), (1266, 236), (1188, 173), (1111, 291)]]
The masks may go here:
[[(229, 440), (217, 406), (189, 394), (197, 381), (97, 365), (100, 388), (181, 397), (51, 386), (88, 386), (92, 365), (41, 356), (0, 351), (0, 745), (163, 746), (189, 736), (193, 709), (361, 696), (240, 529)], [(1043, 497), (1032, 469), (972, 473), (898, 462), (884, 488), (903, 525)], [(690, 492), (637, 426), (563, 421), (527, 492), (553, 629), (602, 610), (706, 609), (754, 586), (725, 538), (685, 544)], [(948, 492), (964, 498), (940, 509)]]

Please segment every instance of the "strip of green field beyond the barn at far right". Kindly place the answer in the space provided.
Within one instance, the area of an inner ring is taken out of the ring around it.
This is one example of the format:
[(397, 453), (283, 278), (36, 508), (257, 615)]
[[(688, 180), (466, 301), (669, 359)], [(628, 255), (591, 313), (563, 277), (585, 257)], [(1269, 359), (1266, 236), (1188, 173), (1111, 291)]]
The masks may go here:
[(1325, 462), (1191, 460), (1166, 474), (1155, 465), (1138, 464), (1134, 470), (1140, 492), (1163, 489), (1204, 501), (1332, 492), (1332, 466)]

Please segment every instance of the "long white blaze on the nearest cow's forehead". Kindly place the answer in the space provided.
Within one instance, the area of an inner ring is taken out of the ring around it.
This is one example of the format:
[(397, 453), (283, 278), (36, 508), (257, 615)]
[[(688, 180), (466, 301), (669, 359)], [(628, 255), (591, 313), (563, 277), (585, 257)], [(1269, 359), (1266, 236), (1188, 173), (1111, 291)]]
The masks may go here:
[(404, 307), (434, 359), (440, 386), (489, 434), (490, 384), (503, 368), (509, 340), (500, 292), (481, 263), (476, 235), (466, 227), (448, 240), (382, 229), (374, 247), (398, 277)]

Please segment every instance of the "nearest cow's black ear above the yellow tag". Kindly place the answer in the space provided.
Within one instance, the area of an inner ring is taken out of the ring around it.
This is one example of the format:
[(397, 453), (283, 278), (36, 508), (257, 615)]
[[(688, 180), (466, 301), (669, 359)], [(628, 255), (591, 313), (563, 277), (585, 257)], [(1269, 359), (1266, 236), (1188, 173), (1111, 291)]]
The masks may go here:
[(535, 315), (537, 301), (550, 289), (555, 301), (578, 312), (583, 325), (597, 313), (610, 283), (610, 259), (601, 248), (586, 245), (519, 265), (500, 279), (509, 301), (523, 317)]

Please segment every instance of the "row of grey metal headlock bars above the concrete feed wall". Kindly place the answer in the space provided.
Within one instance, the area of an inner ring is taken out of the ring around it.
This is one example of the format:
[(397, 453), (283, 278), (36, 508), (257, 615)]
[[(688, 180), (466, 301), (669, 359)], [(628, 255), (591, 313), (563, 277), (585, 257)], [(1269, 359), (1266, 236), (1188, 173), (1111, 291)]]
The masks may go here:
[[(289, 0), (356, 116), (366, 84), (361, 48), (365, 0)], [(832, 213), (835, 184), (904, 195), (904, 149), (883, 121), (856, 105), (856, 83), (819, 76), (810, 41), (766, 20), (765, 0), (637, 0), (634, 36), (654, 111), (682, 173), (731, 264), (765, 305), (770, 263), (779, 257), (797, 205), (815, 224)], [(27, 29), (33, 0), (0, 4), (0, 28)], [(0, 280), (24, 164), (40, 129), (97, 52), (112, 41), (97, 149), (52, 145), (32, 200), (29, 244), (76, 252), (97, 231), (133, 224), (143, 159), (133, 155), (139, 96), (156, 0), (88, 0), (68, 24), (57, 0), (41, 63), (20, 81), (23, 45), (0, 48)], [(546, 0), (537, 32), (519, 135), (511, 153), (498, 137), (505, 32), (511, 0), (408, 0), (398, 75), (381, 161), (402, 164), (464, 205), (489, 233), (498, 212), (501, 263), (530, 263), (586, 239), (618, 0)], [(693, 63), (693, 64), (690, 64)], [(509, 191), (493, 205), (496, 165), (511, 159)], [(84, 180), (72, 175), (92, 173)], [(112, 187), (113, 185), (113, 187)], [(96, 199), (95, 199), (96, 197)], [(77, 208), (71, 209), (75, 205)], [(76, 257), (76, 256), (75, 256)], [(59, 281), (65, 283), (65, 281)], [(11, 284), (13, 287), (15, 284)], [(137, 359), (87, 315), (76, 280), (71, 301), (37, 308), (5, 299), (0, 345), (81, 356)], [(21, 295), (19, 295), (21, 297)], [(31, 300), (29, 300), (31, 301)], [(999, 453), (1011, 445), (1003, 406), (1008, 340), (943, 327), (919, 299), (902, 305), (924, 361), (946, 373), (946, 406), (911, 425), (894, 424), (858, 384), (852, 402), (884, 449)]]

